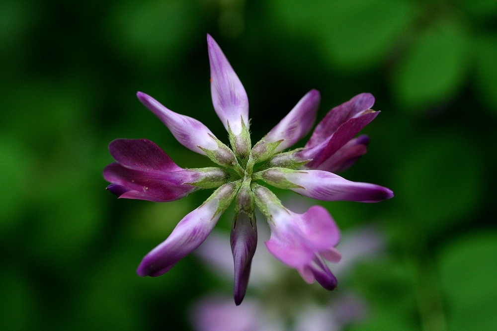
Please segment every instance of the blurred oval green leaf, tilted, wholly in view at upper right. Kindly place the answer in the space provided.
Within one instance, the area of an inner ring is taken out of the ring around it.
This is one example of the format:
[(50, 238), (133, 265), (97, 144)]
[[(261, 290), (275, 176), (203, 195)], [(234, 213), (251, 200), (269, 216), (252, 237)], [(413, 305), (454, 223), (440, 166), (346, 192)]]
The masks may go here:
[(468, 69), (468, 35), (458, 21), (440, 21), (423, 31), (403, 59), (392, 83), (405, 111), (453, 97)]

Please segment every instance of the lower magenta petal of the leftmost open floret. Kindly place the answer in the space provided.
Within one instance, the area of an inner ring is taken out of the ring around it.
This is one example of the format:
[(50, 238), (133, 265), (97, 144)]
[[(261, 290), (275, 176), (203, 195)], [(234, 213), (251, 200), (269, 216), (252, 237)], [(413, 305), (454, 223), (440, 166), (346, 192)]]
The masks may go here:
[(156, 202), (178, 200), (198, 188), (183, 184), (194, 182), (195, 172), (188, 170), (164, 172), (157, 170), (137, 170), (113, 163), (103, 170), (105, 180), (119, 186), (109, 187), (109, 190), (120, 194), (121, 198), (140, 199)]

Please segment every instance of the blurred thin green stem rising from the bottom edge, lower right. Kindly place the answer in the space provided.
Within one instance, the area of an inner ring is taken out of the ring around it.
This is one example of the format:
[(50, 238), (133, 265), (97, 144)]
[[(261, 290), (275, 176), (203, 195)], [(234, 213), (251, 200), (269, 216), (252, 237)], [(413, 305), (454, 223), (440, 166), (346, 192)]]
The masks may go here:
[(422, 258), (414, 261), (414, 287), (421, 328), (424, 331), (446, 331), (439, 281), (424, 240), (417, 242), (416, 251), (415, 256)]

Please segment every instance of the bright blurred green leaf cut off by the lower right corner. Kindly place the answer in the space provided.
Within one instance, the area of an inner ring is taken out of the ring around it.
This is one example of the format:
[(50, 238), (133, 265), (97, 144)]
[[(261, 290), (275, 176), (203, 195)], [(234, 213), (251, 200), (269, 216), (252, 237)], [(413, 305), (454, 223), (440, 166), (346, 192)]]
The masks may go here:
[(496, 256), (494, 231), (464, 236), (439, 253), (450, 330), (497, 329)]

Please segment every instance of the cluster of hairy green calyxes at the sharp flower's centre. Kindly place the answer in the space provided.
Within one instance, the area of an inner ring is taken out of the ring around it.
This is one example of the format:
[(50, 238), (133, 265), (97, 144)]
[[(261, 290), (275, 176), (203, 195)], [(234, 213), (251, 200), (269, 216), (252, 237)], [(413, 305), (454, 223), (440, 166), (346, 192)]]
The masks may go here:
[[(284, 209), (281, 201), (268, 188), (255, 181), (260, 180), (283, 189), (301, 188), (301, 186), (292, 183), (288, 179), (288, 175), (300, 172), (295, 169), (305, 165), (310, 160), (303, 161), (295, 156), (300, 149), (285, 153), (275, 152), (282, 140), (267, 142), (262, 138), (251, 148), (248, 127), (243, 120), (242, 130), (238, 135), (233, 133), (228, 123), (228, 134), (231, 149), (213, 137), (218, 144), (218, 149), (214, 151), (202, 150), (209, 159), (218, 165), (231, 169), (231, 172), (216, 167), (202, 168), (201, 171), (205, 172), (205, 176), (202, 175), (200, 179), (189, 184), (199, 188), (222, 185), (207, 200), (213, 198), (219, 200), (218, 212), (224, 211), (235, 199), (236, 215), (246, 214), (250, 220), (255, 220), (254, 210), (257, 206), (269, 220), (272, 220), (272, 212)], [(257, 164), (260, 166), (254, 172), (254, 167)]]

